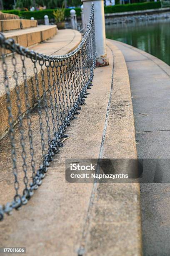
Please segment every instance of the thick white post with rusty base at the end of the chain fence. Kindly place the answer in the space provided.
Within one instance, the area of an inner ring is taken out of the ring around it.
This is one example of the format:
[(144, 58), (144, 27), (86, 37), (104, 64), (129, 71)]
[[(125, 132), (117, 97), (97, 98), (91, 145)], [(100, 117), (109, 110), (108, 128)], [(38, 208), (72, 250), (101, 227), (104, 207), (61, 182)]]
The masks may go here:
[(92, 3), (94, 3), (95, 42), (97, 51), (96, 67), (107, 66), (109, 64), (109, 60), (106, 53), (104, 0), (82, 0), (82, 2), (85, 15), (85, 29), (87, 28), (90, 17)]

